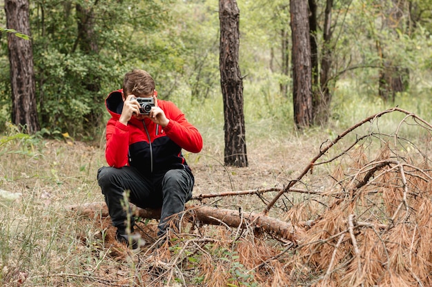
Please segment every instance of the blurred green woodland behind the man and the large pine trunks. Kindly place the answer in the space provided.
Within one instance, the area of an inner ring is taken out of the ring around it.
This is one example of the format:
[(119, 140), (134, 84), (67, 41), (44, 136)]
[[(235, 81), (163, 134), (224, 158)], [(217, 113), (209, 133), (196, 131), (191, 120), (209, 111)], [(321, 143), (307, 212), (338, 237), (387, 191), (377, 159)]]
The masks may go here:
[[(237, 4), (246, 125), (295, 128), (290, 1)], [(104, 98), (133, 67), (148, 70), (159, 96), (194, 123), (222, 129), (218, 7), (217, 0), (30, 1), (41, 134), (98, 139)], [(413, 112), (430, 113), (430, 7), (431, 0), (309, 0), (310, 124), (349, 123), (366, 102), (417, 103)], [(0, 34), (2, 123), (13, 110), (7, 34)]]

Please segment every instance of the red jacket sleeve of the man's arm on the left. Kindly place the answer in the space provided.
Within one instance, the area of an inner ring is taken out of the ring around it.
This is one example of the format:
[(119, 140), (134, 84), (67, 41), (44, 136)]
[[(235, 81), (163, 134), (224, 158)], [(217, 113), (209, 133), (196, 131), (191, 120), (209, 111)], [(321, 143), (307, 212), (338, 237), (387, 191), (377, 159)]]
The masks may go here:
[(128, 164), (129, 127), (110, 119), (106, 125), (106, 162), (110, 167), (124, 167)]

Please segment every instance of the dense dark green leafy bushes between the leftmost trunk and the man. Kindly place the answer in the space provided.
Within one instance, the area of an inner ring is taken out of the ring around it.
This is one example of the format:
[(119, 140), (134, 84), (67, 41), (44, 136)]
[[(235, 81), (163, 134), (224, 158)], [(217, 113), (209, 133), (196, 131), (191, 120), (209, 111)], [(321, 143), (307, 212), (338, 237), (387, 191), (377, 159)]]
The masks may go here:
[[(32, 2), (30, 25), (41, 126), (68, 131), (78, 138), (91, 138), (98, 132), (105, 122), (104, 99), (108, 92), (121, 87), (124, 73), (133, 67), (151, 70), (141, 63), (164, 59), (170, 53), (168, 50), (159, 56), (161, 49), (147, 43), (169, 20), (169, 3)], [(82, 49), (87, 43), (77, 30), (77, 5), (97, 15), (91, 30), (84, 31), (95, 35), (91, 40), (95, 50), (91, 52)]]

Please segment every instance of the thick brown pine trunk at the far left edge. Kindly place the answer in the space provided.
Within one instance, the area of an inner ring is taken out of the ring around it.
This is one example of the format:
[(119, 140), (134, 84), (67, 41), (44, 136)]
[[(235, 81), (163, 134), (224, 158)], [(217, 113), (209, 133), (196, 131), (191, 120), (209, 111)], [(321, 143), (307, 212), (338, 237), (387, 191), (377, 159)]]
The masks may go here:
[[(30, 36), (28, 0), (6, 0), (6, 25)], [(8, 33), (12, 123), (29, 134), (39, 131), (32, 42)]]

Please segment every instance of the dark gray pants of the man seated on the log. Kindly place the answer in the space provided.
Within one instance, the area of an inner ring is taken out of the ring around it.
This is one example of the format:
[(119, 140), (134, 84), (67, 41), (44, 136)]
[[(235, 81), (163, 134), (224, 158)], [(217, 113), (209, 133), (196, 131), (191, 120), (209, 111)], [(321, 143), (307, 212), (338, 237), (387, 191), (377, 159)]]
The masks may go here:
[[(136, 206), (161, 208), (161, 220), (157, 232), (159, 236), (166, 233), (166, 223), (172, 215), (184, 211), (184, 204), (192, 197), (194, 184), (193, 175), (187, 169), (171, 169), (166, 173), (153, 173), (147, 177), (134, 167), (127, 166), (120, 169), (101, 167), (97, 171), (97, 181), (105, 195), (112, 225), (124, 232), (128, 224), (130, 226), (135, 224), (134, 218), (130, 216), (129, 204), (124, 204), (124, 193), (128, 191), (126, 199)], [(176, 226), (178, 226), (178, 217)]]

